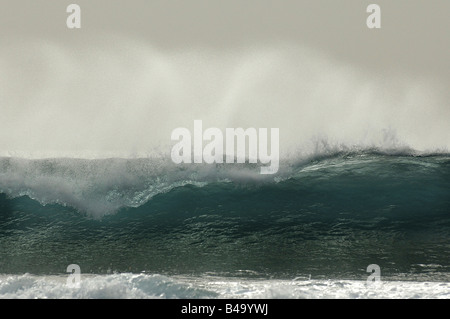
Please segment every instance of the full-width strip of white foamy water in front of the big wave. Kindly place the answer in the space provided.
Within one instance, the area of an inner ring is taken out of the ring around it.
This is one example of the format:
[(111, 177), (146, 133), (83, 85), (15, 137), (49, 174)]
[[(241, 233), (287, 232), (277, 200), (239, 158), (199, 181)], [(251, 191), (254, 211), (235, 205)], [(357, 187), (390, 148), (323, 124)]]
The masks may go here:
[(86, 275), (79, 288), (67, 276), (0, 276), (4, 299), (448, 299), (448, 282), (381, 281), (371, 287), (352, 280), (246, 280), (166, 277), (155, 274)]

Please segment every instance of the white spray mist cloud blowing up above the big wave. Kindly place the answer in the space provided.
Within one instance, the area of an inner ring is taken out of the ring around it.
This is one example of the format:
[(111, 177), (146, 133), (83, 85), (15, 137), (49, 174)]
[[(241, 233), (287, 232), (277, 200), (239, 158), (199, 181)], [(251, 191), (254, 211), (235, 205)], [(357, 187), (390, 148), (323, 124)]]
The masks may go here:
[(138, 40), (0, 44), (0, 156), (170, 154), (171, 132), (279, 128), (280, 152), (448, 152), (440, 84), (288, 44), (165, 51)]

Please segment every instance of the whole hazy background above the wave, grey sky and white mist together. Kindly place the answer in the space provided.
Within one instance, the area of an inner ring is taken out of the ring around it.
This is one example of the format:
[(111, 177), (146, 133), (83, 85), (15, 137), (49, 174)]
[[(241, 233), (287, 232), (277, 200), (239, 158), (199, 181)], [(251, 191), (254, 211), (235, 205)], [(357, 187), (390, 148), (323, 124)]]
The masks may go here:
[(148, 150), (194, 119), (295, 147), (450, 148), (449, 0), (1, 4), (0, 155)]

